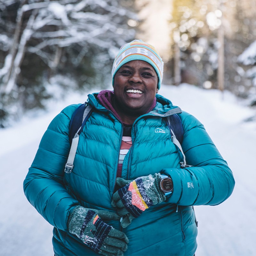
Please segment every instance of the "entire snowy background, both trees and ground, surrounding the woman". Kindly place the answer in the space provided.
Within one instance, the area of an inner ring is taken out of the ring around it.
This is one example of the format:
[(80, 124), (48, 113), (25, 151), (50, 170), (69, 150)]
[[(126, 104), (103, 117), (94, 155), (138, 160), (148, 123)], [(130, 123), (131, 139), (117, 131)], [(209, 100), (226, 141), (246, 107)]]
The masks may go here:
[(223, 204), (195, 207), (196, 255), (256, 255), (255, 12), (255, 0), (0, 0), (0, 255), (53, 254), (23, 180), (52, 118), (111, 89), (135, 38), (156, 47), (160, 93), (202, 121), (236, 180)]

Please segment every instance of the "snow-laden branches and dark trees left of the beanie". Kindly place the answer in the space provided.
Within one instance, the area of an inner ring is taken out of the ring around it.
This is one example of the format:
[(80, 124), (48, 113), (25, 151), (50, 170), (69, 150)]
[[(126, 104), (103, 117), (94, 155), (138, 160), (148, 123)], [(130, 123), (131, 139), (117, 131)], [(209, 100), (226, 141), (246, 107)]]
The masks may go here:
[(118, 0), (0, 1), (0, 119), (42, 106), (53, 77), (77, 88), (109, 81), (118, 48), (133, 39), (131, 19)]

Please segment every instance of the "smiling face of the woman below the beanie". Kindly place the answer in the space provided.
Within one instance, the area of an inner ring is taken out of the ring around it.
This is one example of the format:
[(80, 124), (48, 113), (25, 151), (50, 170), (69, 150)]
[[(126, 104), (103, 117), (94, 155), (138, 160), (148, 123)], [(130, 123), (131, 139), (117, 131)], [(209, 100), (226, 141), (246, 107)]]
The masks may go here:
[(129, 61), (116, 72), (115, 104), (123, 113), (145, 114), (152, 106), (157, 92), (156, 71), (146, 61)]

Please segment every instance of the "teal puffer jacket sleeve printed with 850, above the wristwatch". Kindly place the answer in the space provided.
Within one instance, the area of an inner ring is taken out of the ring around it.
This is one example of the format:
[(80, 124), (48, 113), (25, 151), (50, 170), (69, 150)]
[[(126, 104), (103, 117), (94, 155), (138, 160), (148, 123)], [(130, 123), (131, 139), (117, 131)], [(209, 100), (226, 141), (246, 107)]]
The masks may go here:
[(192, 115), (180, 114), (184, 128), (182, 149), (193, 167), (167, 168), (173, 193), (167, 202), (178, 205), (216, 205), (225, 201), (235, 185), (233, 174), (204, 126)]

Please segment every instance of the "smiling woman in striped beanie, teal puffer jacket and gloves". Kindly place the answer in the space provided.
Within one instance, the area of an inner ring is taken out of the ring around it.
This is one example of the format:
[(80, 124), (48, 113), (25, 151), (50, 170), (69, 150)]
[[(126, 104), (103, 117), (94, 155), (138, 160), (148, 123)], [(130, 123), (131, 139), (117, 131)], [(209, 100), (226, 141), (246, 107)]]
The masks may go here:
[[(49, 125), (24, 191), (54, 226), (56, 255), (194, 255), (192, 205), (220, 204), (231, 195), (232, 172), (204, 126), (156, 94), (162, 75), (154, 47), (140, 40), (121, 47), (112, 69), (114, 92), (88, 95), (93, 112), (72, 172), (63, 170), (78, 105)], [(173, 114), (184, 129), (185, 168), (165, 122)]]

